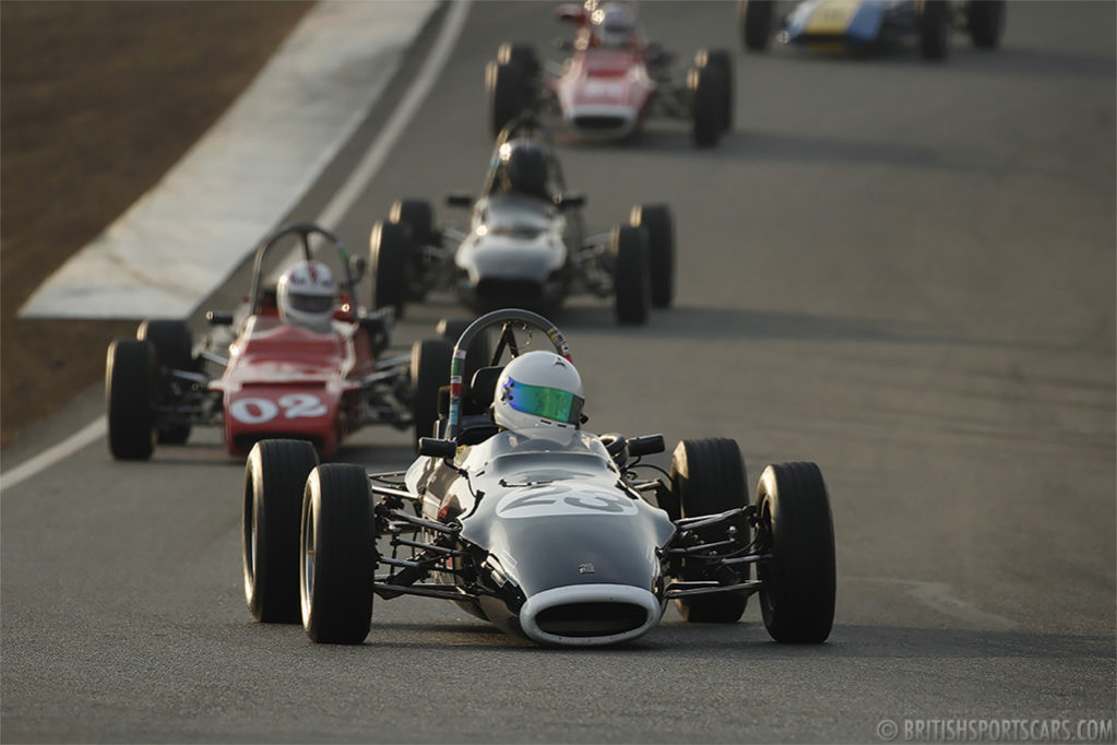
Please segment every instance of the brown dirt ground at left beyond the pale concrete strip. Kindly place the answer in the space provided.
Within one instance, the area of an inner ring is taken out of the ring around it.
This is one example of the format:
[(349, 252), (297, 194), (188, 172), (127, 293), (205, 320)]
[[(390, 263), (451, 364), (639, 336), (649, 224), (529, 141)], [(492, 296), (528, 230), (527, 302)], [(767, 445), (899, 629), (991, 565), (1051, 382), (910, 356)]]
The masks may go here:
[[(104, 375), (135, 322), (20, 305), (194, 143), (313, 2), (0, 2), (0, 424)], [(185, 217), (185, 216), (184, 216)]]

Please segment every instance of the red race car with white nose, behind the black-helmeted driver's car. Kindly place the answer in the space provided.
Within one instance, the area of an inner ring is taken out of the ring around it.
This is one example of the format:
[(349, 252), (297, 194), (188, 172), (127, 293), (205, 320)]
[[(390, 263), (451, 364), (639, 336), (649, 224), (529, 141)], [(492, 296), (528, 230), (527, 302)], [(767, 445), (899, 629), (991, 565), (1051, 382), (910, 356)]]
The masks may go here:
[[(699, 50), (685, 74), (672, 55), (647, 44), (626, 2), (585, 0), (555, 10), (576, 26), (562, 65), (541, 65), (527, 44), (505, 44), (485, 70), (493, 135), (524, 109), (558, 114), (582, 137), (620, 140), (655, 116), (688, 120), (695, 143), (709, 146), (733, 127), (733, 58)], [(681, 79), (680, 79), (681, 78)]]

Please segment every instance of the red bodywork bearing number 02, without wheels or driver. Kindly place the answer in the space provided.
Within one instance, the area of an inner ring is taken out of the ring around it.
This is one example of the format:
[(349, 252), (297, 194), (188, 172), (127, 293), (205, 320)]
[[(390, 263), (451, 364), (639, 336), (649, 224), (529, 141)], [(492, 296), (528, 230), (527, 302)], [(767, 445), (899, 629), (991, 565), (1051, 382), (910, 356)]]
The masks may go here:
[(314, 442), (334, 453), (360, 426), (361, 378), (375, 371), (367, 335), (343, 303), (335, 331), (284, 324), (274, 307), (250, 316), (229, 346), (229, 363), (210, 390), (221, 391), (225, 447), (245, 456), (264, 438)]

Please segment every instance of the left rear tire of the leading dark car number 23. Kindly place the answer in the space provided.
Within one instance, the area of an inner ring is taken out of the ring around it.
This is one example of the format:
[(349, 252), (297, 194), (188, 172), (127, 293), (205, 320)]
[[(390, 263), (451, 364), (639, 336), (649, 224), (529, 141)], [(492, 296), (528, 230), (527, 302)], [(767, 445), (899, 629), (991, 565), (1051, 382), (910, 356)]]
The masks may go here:
[(298, 623), (298, 529), (318, 453), (305, 440), (261, 440), (245, 464), (241, 566), (257, 621)]

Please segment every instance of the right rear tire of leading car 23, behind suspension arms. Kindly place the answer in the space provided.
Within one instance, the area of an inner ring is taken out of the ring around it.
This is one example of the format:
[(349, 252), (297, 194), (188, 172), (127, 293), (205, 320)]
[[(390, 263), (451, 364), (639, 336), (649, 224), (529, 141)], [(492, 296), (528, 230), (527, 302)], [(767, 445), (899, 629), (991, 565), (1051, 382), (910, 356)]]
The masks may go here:
[[(678, 500), (682, 517), (716, 515), (748, 504), (748, 481), (745, 460), (735, 440), (715, 437), (701, 440), (682, 440), (671, 453), (671, 494)], [(748, 544), (748, 520), (742, 515), (733, 523), (742, 546)], [(725, 527), (698, 529), (703, 538), (725, 538)], [(748, 577), (744, 565), (743, 579)], [(707, 562), (681, 562), (679, 579), (682, 581), (713, 580), (715, 575)], [(743, 592), (725, 592), (696, 598), (679, 598), (676, 608), (684, 620), (697, 623), (735, 623), (745, 612), (748, 596)]]

